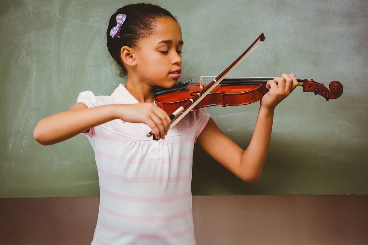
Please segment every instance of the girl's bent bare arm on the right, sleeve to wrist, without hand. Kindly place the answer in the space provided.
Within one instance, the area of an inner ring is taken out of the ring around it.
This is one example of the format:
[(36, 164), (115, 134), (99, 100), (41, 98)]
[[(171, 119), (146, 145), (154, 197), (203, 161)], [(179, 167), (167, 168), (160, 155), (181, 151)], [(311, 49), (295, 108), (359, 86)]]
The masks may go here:
[(257, 182), (270, 146), (272, 122), (273, 110), (260, 107), (251, 142), (244, 151), (209, 118), (197, 138), (197, 143), (208, 155), (243, 181)]

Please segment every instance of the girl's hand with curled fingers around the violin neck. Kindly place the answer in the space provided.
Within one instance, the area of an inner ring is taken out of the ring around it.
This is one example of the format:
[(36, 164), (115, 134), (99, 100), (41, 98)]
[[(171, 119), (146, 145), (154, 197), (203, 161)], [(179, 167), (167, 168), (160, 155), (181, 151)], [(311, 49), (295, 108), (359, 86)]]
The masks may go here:
[(277, 104), (285, 99), (298, 86), (295, 74), (287, 75), (283, 73), (281, 77), (275, 77), (272, 81), (267, 81), (266, 88), (269, 91), (263, 95), (259, 104), (261, 107), (275, 110)]

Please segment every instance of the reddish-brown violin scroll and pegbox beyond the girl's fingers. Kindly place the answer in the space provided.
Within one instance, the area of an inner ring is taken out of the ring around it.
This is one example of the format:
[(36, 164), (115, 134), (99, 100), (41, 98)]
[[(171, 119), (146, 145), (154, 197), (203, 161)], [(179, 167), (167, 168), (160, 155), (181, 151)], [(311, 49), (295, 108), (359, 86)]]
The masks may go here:
[(303, 82), (302, 87), (304, 92), (314, 92), (315, 95), (321, 95), (326, 100), (337, 99), (343, 93), (343, 85), (339, 81), (330, 82), (330, 89), (313, 79)]

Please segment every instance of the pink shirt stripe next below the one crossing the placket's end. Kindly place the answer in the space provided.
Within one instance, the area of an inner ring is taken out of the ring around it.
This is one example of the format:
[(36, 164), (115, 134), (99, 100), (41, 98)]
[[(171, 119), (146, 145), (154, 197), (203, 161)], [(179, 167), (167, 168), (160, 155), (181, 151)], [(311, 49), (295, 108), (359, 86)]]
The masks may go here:
[(162, 182), (169, 183), (169, 182), (177, 182), (181, 180), (188, 180), (192, 178), (191, 174), (171, 176), (171, 177), (158, 176), (158, 177), (132, 178), (132, 177), (126, 177), (126, 176), (119, 175), (119, 174), (108, 173), (101, 169), (99, 169), (99, 174), (102, 174), (108, 178), (112, 178), (115, 180), (121, 180), (121, 181), (132, 182), (132, 183), (162, 183)]

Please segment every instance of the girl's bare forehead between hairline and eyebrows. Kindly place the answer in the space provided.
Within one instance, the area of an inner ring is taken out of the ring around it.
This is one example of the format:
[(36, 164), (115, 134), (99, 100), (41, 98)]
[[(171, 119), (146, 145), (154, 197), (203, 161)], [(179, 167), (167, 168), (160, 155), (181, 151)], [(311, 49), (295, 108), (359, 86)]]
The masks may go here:
[(180, 25), (171, 18), (159, 18), (152, 35), (144, 38), (142, 42), (158, 45), (162, 40), (172, 40), (173, 45), (182, 41)]

